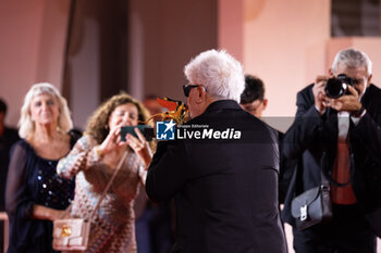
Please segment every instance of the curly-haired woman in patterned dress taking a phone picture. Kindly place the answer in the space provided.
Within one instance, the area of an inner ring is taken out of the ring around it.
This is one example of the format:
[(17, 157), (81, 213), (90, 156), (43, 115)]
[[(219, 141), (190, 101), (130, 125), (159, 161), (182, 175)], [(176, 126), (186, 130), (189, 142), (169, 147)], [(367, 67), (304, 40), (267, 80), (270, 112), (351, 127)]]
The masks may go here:
[(137, 129), (138, 138), (128, 134), (125, 142), (121, 141), (120, 131), (122, 126), (137, 126), (138, 121), (146, 121), (148, 116), (143, 105), (131, 96), (113, 96), (96, 110), (84, 137), (58, 165), (63, 177), (76, 175), (72, 217), (87, 218), (122, 155), (127, 152), (121, 172), (91, 220), (85, 252), (136, 252), (133, 204), (139, 184), (146, 180), (151, 150)]

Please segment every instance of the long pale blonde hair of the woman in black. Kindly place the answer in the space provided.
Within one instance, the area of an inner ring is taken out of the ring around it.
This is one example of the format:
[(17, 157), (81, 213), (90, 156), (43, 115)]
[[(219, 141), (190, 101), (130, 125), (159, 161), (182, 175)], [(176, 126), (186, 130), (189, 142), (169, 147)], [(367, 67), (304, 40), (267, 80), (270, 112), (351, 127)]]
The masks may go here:
[(32, 86), (24, 98), (24, 104), (21, 107), (21, 117), (19, 121), (19, 135), (21, 138), (25, 139), (33, 135), (35, 131), (35, 123), (30, 117), (30, 103), (36, 96), (42, 93), (54, 97), (59, 103), (59, 117), (57, 125), (58, 130), (66, 132), (73, 127), (73, 122), (70, 117), (66, 100), (60, 94), (54, 86), (48, 83), (40, 83)]

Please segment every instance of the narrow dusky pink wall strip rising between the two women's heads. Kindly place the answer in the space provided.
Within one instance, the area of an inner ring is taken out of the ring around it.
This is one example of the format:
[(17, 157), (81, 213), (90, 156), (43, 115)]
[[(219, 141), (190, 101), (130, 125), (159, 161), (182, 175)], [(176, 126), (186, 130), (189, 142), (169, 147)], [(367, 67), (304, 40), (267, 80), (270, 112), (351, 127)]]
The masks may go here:
[(77, 1), (75, 12), (66, 78), (75, 84), (69, 88), (73, 124), (85, 129), (88, 116), (100, 103), (100, 27), (95, 15), (101, 12), (101, 4)]

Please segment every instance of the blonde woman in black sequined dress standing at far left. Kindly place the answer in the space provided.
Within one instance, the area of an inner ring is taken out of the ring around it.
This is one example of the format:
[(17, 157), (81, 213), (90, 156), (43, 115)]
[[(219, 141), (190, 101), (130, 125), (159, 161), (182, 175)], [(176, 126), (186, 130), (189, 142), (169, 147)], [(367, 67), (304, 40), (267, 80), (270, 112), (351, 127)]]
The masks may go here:
[(10, 218), (8, 253), (52, 250), (52, 223), (74, 197), (74, 180), (57, 172), (58, 161), (77, 140), (65, 99), (50, 84), (34, 85), (19, 122), (22, 138), (13, 146), (7, 180)]

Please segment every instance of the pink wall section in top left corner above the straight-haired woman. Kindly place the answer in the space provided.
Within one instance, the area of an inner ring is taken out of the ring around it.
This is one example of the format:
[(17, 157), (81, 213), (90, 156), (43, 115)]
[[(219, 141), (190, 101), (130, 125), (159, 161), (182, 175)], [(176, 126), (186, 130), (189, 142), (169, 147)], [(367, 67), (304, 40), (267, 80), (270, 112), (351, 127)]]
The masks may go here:
[(3, 1), (0, 8), (0, 96), (15, 125), (23, 94), (36, 79), (44, 1)]

